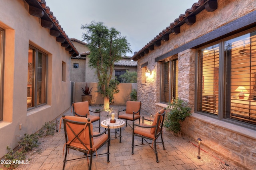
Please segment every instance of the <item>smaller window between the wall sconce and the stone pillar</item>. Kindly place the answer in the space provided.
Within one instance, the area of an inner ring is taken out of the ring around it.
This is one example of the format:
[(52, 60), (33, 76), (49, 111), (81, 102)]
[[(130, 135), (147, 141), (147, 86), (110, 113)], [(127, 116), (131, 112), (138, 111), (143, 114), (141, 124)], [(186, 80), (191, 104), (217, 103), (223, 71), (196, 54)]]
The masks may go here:
[(178, 97), (178, 59), (177, 55), (161, 63), (160, 102), (172, 102)]

